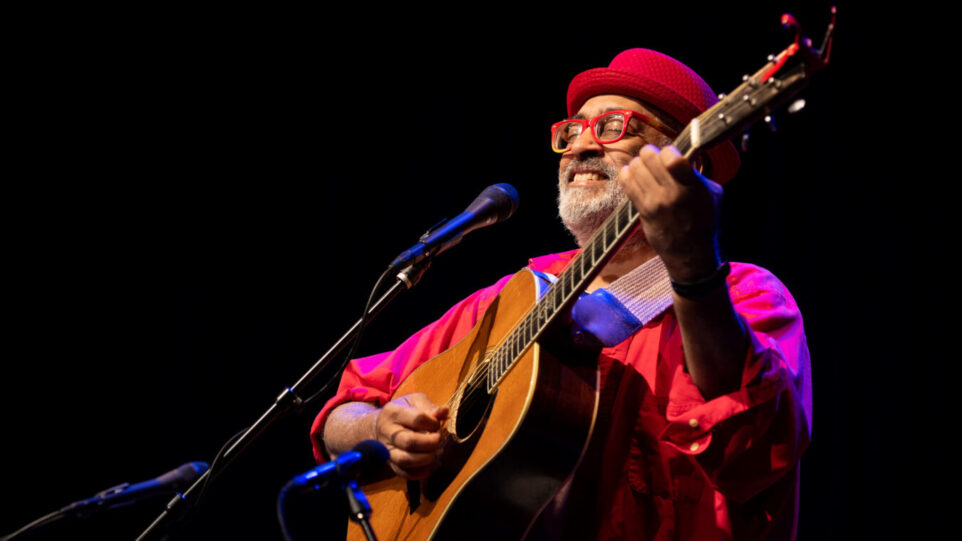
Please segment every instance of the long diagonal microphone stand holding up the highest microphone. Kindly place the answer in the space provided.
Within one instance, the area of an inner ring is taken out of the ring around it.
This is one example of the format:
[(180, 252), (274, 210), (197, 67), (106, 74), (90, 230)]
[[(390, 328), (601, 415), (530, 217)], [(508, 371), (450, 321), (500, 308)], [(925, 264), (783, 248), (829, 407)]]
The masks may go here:
[[(205, 484), (209, 483), (213, 479), (217, 478), (231, 462), (234, 461), (238, 456), (241, 455), (250, 445), (265, 431), (269, 426), (271, 426), (275, 421), (280, 419), (282, 416), (295, 411), (302, 403), (303, 400), (299, 396), (305, 387), (307, 387), (321, 372), (327, 368), (330, 364), (331, 359), (333, 359), (344, 347), (350, 342), (350, 340), (360, 331), (362, 324), (365, 320), (370, 321), (372, 318), (381, 313), (381, 311), (397, 297), (401, 291), (404, 289), (411, 289), (421, 280), (421, 276), (424, 272), (431, 266), (431, 260), (425, 259), (423, 261), (414, 263), (408, 267), (405, 267), (401, 272), (397, 274), (397, 280), (394, 285), (385, 292), (380, 299), (375, 302), (371, 308), (368, 310), (364, 317), (361, 317), (354, 323), (354, 325), (348, 329), (348, 331), (340, 338), (338, 341), (331, 346), (327, 352), (314, 363), (314, 365), (308, 369), (308, 371), (297, 380), (294, 385), (290, 387), (285, 387), (281, 394), (274, 399), (274, 403), (271, 404), (270, 408), (264, 412), (257, 421), (251, 425), (244, 433), (234, 441), (230, 447), (224, 451), (221, 460), (217, 461), (217, 465), (220, 467), (215, 468), (214, 464), (211, 464), (211, 468), (204, 472), (194, 483), (184, 491), (182, 494), (177, 494), (170, 502), (167, 503), (166, 508), (161, 512), (150, 526), (144, 530), (143, 533), (137, 537), (137, 541), (148, 541), (150, 539), (156, 538), (160, 535), (161, 527), (167, 524), (173, 518), (179, 518), (179, 515), (187, 509), (187, 505), (192, 503), (192, 498), (198, 493), (198, 491), (203, 491)], [(389, 269), (390, 270), (390, 269)], [(216, 470), (216, 471), (215, 471)], [(369, 511), (368, 511), (369, 513)]]

